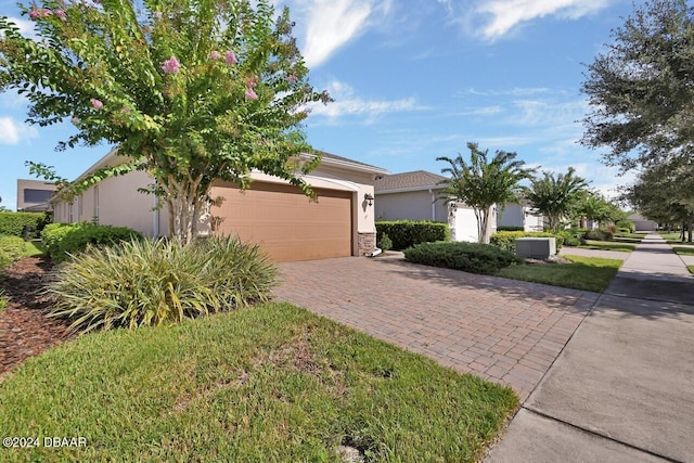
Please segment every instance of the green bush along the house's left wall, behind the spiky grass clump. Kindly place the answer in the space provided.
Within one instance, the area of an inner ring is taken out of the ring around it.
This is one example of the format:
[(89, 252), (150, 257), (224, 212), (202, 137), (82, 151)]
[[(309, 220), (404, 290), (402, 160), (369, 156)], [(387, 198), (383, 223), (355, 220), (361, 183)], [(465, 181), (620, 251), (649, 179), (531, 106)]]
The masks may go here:
[(51, 223), (41, 233), (46, 252), (54, 262), (62, 262), (87, 248), (88, 245), (113, 245), (121, 241), (142, 240), (127, 227), (98, 226), (89, 222)]

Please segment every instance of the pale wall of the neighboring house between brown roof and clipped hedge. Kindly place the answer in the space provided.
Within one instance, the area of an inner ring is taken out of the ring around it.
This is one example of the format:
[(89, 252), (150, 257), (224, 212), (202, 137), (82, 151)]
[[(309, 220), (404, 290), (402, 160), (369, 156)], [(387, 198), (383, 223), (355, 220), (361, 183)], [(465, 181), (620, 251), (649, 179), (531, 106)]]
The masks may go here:
[(448, 206), (442, 200), (436, 200), (438, 195), (437, 190), (377, 193), (376, 220), (409, 219), (446, 222)]

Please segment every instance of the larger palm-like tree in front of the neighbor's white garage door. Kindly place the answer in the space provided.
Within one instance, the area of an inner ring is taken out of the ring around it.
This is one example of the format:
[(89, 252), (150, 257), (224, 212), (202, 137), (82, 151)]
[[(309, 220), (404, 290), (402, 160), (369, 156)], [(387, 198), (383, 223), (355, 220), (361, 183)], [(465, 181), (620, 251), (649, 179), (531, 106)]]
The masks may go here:
[(475, 211), (477, 219), (477, 236), (480, 243), (489, 243), (489, 217), (494, 205), (517, 201), (518, 183), (532, 176), (532, 169), (523, 166), (525, 162), (514, 160), (516, 153), (497, 151), (488, 159), (489, 150), (480, 151), (477, 143), (468, 142), (470, 163), (458, 157), (437, 157), (450, 165), (441, 169), (441, 173), (450, 178), (441, 183), (446, 185), (447, 203), (462, 201)]

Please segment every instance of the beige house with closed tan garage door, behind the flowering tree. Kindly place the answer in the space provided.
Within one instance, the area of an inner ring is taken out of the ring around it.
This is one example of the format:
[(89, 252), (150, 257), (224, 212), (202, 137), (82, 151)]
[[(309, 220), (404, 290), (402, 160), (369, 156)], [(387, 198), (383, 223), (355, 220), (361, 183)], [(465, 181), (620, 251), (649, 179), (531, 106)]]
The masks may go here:
[[(314, 157), (303, 154), (305, 158)], [(79, 178), (125, 163), (112, 151)], [(274, 261), (360, 256), (375, 248), (373, 182), (388, 171), (329, 153), (304, 176), (318, 194), (311, 201), (285, 180), (254, 171), (250, 188), (218, 181), (201, 234), (237, 234), (258, 243)], [(98, 221), (130, 227), (146, 236), (167, 235), (168, 210), (155, 209), (156, 198), (139, 189), (152, 184), (144, 171), (107, 178), (72, 200), (52, 202), (56, 222)]]

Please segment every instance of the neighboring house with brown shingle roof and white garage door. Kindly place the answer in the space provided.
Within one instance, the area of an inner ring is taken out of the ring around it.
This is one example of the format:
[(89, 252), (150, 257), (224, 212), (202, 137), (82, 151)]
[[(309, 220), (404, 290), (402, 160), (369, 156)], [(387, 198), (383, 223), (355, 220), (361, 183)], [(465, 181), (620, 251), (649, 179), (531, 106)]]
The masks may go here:
[[(446, 203), (446, 177), (425, 170), (383, 176), (375, 182), (376, 220), (435, 220), (447, 222), (453, 241), (477, 241), (475, 213), (462, 202)], [(489, 220), (491, 232), (496, 216)]]

